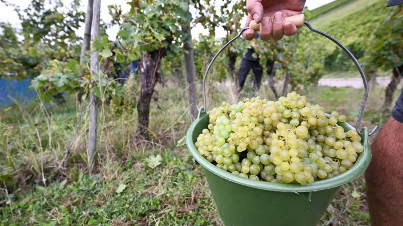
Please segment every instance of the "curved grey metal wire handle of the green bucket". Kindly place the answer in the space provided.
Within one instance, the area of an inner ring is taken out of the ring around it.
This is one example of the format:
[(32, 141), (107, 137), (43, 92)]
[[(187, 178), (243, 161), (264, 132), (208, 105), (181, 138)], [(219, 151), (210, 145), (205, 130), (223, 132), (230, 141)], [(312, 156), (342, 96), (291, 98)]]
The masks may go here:
[[(342, 49), (349, 55), (349, 57), (351, 58), (351, 60), (353, 60), (354, 64), (357, 66), (357, 69), (358, 69), (358, 71), (360, 72), (361, 78), (362, 78), (362, 80), (363, 80), (363, 82), (364, 82), (364, 97), (363, 97), (363, 100), (362, 100), (361, 109), (360, 109), (360, 113), (358, 114), (357, 124), (356, 124), (356, 130), (357, 130), (358, 134), (360, 134), (360, 135), (362, 136), (362, 133), (361, 133), (361, 119), (362, 119), (362, 116), (363, 116), (363, 114), (364, 114), (365, 104), (367, 103), (368, 93), (369, 93), (368, 80), (367, 80), (367, 78), (365, 77), (364, 70), (362, 69), (362, 67), (361, 67), (360, 63), (358, 62), (357, 58), (355, 58), (354, 55), (350, 52), (350, 50), (347, 49), (347, 47), (344, 46), (341, 42), (339, 42), (339, 40), (337, 40), (337, 39), (331, 37), (330, 35), (328, 35), (328, 34), (325, 33), (325, 32), (322, 32), (322, 31), (320, 31), (320, 30), (314, 29), (307, 21), (304, 21), (304, 24), (309, 28), (309, 30), (311, 30), (311, 31), (313, 31), (313, 32), (315, 32), (315, 33), (318, 33), (319, 35), (322, 35), (322, 36), (324, 36), (324, 37), (330, 39), (330, 40), (331, 40), (332, 42), (334, 42), (335, 44), (337, 44), (340, 48), (342, 48)], [(213, 57), (213, 59), (211, 60), (209, 66), (207, 67), (206, 73), (205, 73), (205, 75), (204, 75), (204, 77), (203, 77), (203, 86), (202, 86), (202, 89), (203, 89), (204, 108), (201, 108), (201, 109), (200, 109), (199, 115), (200, 115), (200, 113), (206, 112), (206, 107), (207, 107), (207, 106), (206, 106), (206, 90), (205, 90), (205, 85), (206, 85), (207, 74), (209, 73), (210, 67), (213, 65), (213, 62), (216, 60), (216, 58), (218, 57), (218, 55), (220, 55), (220, 53), (221, 53), (227, 46), (229, 46), (232, 42), (234, 42), (236, 39), (238, 39), (238, 38), (242, 35), (242, 33), (243, 33), (244, 31), (248, 30), (248, 29), (249, 29), (249, 28), (243, 28), (243, 29), (241, 30), (241, 32), (240, 32), (235, 38), (231, 39), (228, 43), (226, 43), (223, 47), (221, 47), (221, 49), (216, 53), (216, 55), (215, 55), (215, 56)], [(368, 133), (368, 136), (373, 135), (373, 134), (376, 132), (376, 130), (378, 130), (378, 128), (379, 128), (378, 126), (375, 126), (374, 129), (372, 129), (372, 131)]]

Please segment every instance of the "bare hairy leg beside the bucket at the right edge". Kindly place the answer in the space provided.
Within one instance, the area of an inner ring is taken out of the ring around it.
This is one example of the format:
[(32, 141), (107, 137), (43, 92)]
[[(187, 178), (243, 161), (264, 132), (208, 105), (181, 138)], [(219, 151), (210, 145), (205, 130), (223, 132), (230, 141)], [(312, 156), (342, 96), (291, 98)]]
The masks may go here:
[(371, 151), (365, 179), (372, 225), (399, 225), (403, 220), (403, 123), (390, 117)]

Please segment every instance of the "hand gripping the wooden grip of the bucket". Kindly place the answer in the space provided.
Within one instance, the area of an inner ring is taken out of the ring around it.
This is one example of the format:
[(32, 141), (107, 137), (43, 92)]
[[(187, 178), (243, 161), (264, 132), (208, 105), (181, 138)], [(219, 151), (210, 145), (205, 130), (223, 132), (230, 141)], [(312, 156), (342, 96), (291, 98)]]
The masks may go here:
[[(262, 40), (280, 40), (284, 35), (291, 36), (297, 33), (296, 25), (284, 18), (301, 14), (305, 0), (246, 0), (246, 10), (249, 15), (245, 28), (254, 20), (260, 23), (259, 35)], [(255, 31), (248, 29), (243, 33), (246, 40), (252, 40)]]

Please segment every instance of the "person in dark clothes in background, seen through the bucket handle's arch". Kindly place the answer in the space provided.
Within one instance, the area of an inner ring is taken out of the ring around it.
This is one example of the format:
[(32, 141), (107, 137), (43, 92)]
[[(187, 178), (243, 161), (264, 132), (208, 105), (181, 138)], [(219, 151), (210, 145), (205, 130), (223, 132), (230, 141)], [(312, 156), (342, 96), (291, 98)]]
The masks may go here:
[[(257, 32), (254, 34), (254, 38), (259, 38), (259, 35)], [(259, 63), (259, 56), (258, 54), (254, 51), (254, 48), (256, 48), (256, 44), (254, 42), (250, 43), (250, 46), (245, 54), (245, 56), (242, 58), (241, 61), (241, 66), (239, 68), (239, 88), (238, 88), (238, 95), (242, 91), (243, 85), (245, 84), (246, 77), (249, 74), (249, 71), (252, 69), (253, 76), (254, 76), (254, 82), (253, 82), (253, 88), (255, 91), (259, 90), (260, 88), (260, 83), (261, 83), (261, 75), (263, 74), (263, 68), (261, 67)]]

